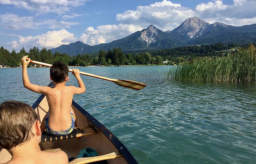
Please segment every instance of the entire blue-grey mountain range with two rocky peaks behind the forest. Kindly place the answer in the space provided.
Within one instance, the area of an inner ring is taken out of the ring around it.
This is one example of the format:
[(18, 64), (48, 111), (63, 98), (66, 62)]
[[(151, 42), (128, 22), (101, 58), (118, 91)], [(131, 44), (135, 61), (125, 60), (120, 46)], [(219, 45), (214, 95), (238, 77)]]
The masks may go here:
[(225, 25), (216, 22), (209, 24), (197, 17), (186, 19), (172, 31), (163, 32), (153, 25), (141, 31), (110, 43), (95, 46), (84, 44), (81, 41), (52, 48), (52, 53), (67, 53), (71, 56), (84, 53), (97, 53), (102, 50), (121, 47), (124, 52), (143, 51), (152, 49), (173, 48), (197, 44), (250, 44), (256, 42), (256, 24), (240, 27)]

